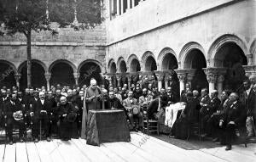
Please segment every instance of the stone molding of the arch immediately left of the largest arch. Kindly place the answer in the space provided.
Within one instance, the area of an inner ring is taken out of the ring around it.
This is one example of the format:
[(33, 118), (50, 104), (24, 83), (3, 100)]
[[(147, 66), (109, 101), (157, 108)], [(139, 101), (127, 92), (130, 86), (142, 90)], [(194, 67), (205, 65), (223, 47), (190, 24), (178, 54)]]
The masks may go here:
[(183, 48), (181, 49), (179, 56), (178, 56), (178, 60), (180, 61), (180, 68), (184, 69), (185, 66), (185, 60), (189, 54), (189, 52), (191, 52), (194, 49), (198, 49), (201, 51), (201, 53), (204, 54), (205, 58), (206, 58), (206, 53), (204, 48), (201, 46), (201, 44), (199, 44), (198, 42), (188, 42), (187, 44), (185, 44), (183, 46)]

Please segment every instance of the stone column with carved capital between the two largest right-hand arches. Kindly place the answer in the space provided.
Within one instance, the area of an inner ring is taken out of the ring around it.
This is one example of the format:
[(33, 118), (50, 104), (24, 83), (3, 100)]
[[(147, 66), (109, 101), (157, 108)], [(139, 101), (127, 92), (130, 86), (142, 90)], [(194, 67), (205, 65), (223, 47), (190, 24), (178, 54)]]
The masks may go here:
[(204, 72), (207, 75), (207, 81), (209, 83), (209, 92), (215, 89), (215, 83), (218, 76), (218, 68), (204, 68)]

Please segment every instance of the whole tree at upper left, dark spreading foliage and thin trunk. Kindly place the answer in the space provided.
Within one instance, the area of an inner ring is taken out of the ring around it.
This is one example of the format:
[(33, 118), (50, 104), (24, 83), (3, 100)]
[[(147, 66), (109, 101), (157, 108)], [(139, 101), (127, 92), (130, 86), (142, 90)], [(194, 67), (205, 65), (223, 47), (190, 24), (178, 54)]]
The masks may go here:
[[(76, 31), (102, 23), (102, 0), (0, 0), (0, 34), (26, 36), (27, 87), (31, 87), (32, 33), (71, 27)], [(79, 22), (79, 23), (78, 23)]]

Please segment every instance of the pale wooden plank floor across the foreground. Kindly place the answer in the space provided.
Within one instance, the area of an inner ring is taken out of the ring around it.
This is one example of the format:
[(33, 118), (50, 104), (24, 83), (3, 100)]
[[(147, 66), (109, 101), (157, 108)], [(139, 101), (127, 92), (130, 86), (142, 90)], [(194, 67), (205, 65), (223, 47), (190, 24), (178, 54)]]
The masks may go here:
[(256, 144), (186, 150), (155, 137), (131, 132), (131, 142), (103, 143), (100, 147), (86, 145), (83, 139), (68, 142), (55, 139), (51, 142), (17, 142), (0, 145), (0, 161), (4, 162), (122, 162), (122, 161), (195, 161), (195, 162), (253, 162), (256, 161)]

